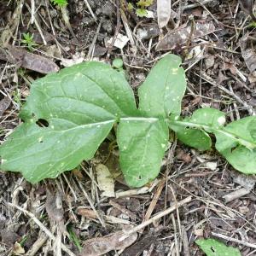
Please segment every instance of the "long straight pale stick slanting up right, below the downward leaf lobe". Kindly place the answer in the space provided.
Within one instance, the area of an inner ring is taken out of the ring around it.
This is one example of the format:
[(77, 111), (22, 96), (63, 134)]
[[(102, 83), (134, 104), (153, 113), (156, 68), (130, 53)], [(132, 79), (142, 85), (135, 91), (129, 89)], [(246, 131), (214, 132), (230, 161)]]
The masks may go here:
[(138, 232), (139, 230), (142, 230), (143, 228), (145, 228), (149, 224), (152, 224), (152, 223), (154, 223), (154, 221), (158, 220), (159, 218), (162, 218), (162, 217), (166, 216), (167, 214), (169, 214), (171, 212), (174, 212), (178, 207), (182, 207), (183, 205), (189, 203), (190, 201), (192, 201), (192, 196), (188, 196), (185, 199), (183, 199), (182, 201), (179, 201), (176, 204), (173, 204), (172, 207), (169, 207), (168, 209), (166, 209), (163, 212), (159, 212), (158, 214), (154, 215), (154, 217), (149, 218), (148, 220), (144, 221), (142, 224), (137, 225), (133, 229), (128, 230), (128, 231), (124, 230), (125, 236), (121, 236), (119, 238), (119, 241), (125, 240), (125, 238), (130, 236), (132, 233), (135, 233), (135, 232)]

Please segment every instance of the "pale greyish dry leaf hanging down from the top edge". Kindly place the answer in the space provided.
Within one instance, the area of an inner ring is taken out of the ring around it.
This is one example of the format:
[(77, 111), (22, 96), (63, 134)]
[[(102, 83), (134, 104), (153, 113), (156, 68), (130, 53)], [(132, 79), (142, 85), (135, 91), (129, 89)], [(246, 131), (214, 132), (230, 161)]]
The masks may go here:
[(157, 0), (157, 21), (160, 28), (167, 25), (171, 16), (171, 0)]

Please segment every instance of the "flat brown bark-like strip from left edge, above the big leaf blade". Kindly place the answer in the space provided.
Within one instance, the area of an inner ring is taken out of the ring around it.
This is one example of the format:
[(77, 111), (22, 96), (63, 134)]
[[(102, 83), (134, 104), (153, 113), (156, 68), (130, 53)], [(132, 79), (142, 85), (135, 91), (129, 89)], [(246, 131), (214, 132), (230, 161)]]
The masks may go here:
[(0, 49), (0, 60), (9, 61), (38, 73), (55, 73), (60, 70), (54, 61), (12, 45)]

